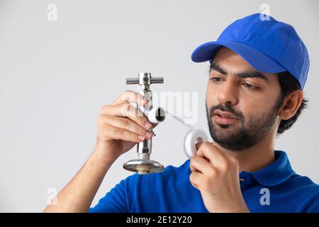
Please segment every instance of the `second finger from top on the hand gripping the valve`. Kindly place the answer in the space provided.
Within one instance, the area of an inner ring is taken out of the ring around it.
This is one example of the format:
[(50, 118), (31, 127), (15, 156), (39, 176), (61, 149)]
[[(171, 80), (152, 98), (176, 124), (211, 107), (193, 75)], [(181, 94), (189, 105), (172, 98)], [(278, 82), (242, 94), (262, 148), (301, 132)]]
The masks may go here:
[(130, 118), (132, 121), (138, 123), (138, 125), (142, 126), (146, 130), (149, 130), (152, 127), (152, 123), (150, 123), (150, 121), (148, 121), (147, 118), (140, 111), (138, 111), (138, 109), (134, 108), (130, 104), (104, 106), (101, 114)]

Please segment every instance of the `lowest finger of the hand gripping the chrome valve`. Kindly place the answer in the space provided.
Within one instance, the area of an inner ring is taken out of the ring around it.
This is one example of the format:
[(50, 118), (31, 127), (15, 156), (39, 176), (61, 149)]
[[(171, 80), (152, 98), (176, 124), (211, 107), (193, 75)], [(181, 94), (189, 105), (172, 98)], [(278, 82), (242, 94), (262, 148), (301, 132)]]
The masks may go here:
[(100, 130), (100, 140), (124, 140), (139, 143), (145, 139), (145, 137), (142, 135), (131, 133), (130, 131), (126, 131), (122, 128), (116, 128), (110, 125), (104, 125), (103, 127), (101, 127)]

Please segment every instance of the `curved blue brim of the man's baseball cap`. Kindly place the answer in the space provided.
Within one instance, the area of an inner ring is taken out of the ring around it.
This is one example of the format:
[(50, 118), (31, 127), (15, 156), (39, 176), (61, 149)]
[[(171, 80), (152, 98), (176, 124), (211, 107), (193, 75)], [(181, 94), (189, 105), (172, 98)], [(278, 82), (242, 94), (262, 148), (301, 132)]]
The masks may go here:
[(265, 55), (263, 52), (256, 50), (249, 45), (237, 42), (209, 42), (200, 45), (191, 54), (191, 60), (194, 62), (206, 62), (212, 60), (216, 50), (221, 46), (230, 48), (244, 58), (252, 67), (260, 72), (278, 73), (284, 72), (286, 69), (279, 65), (275, 60)]

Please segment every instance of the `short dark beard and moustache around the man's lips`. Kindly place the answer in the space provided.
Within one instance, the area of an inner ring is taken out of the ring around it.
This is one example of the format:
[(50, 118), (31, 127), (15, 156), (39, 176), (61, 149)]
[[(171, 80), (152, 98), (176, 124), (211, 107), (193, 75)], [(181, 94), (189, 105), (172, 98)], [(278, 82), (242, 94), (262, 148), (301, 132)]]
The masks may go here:
[[(240, 151), (250, 148), (259, 143), (272, 130), (274, 123), (276, 123), (278, 104), (268, 113), (259, 116), (251, 115), (246, 121), (242, 113), (235, 111), (229, 104), (211, 106), (208, 109), (206, 102), (206, 115), (211, 137), (216, 143), (228, 150)], [(218, 124), (215, 121), (213, 123), (212, 117), (215, 115), (213, 112), (216, 109), (230, 112), (238, 118), (238, 121), (227, 125)]]

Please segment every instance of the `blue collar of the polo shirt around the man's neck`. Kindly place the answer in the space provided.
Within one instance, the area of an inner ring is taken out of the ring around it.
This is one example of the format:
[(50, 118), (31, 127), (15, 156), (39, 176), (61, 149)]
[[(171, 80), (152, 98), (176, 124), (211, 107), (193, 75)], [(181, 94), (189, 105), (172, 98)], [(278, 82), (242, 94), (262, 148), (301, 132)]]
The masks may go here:
[[(274, 150), (275, 161), (267, 165), (262, 170), (250, 172), (259, 184), (264, 186), (274, 186), (289, 179), (295, 172), (293, 171), (288, 156), (282, 150)], [(245, 172), (245, 171), (242, 171)], [(240, 172), (240, 175), (242, 175)]]

